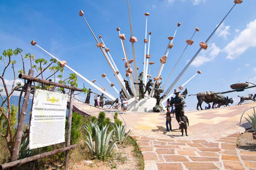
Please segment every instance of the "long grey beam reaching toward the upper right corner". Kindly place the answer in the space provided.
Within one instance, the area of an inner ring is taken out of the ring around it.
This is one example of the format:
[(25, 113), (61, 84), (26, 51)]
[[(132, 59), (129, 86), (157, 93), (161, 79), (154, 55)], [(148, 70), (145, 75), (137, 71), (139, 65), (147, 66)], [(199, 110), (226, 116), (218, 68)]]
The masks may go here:
[[(206, 39), (205, 43), (207, 43), (212, 35), (217, 31), (217, 29), (220, 27), (220, 25), (222, 24), (222, 22), (225, 20), (225, 18), (227, 18), (228, 14), (232, 11), (232, 9), (235, 7), (236, 4), (233, 5), (233, 7), (228, 11), (228, 13), (226, 14), (226, 16), (220, 21), (220, 24), (213, 30), (213, 32), (211, 33), (211, 35)], [(184, 72), (188, 69), (188, 67), (190, 66), (190, 64), (195, 60), (196, 56), (200, 53), (200, 51), (203, 48), (200, 47), (199, 50), (196, 52), (196, 54), (192, 57), (192, 59), (188, 62), (188, 64), (185, 66), (185, 68), (180, 72), (180, 74), (177, 76), (177, 78), (175, 78), (175, 80), (172, 82), (172, 84), (169, 86), (169, 88), (164, 92), (164, 96), (167, 96), (168, 93), (172, 90), (172, 88), (174, 87), (174, 85), (176, 85), (176, 83), (179, 81), (179, 79), (181, 78), (181, 76), (184, 74)], [(166, 97), (164, 97), (162, 100), (164, 100)]]

